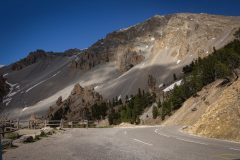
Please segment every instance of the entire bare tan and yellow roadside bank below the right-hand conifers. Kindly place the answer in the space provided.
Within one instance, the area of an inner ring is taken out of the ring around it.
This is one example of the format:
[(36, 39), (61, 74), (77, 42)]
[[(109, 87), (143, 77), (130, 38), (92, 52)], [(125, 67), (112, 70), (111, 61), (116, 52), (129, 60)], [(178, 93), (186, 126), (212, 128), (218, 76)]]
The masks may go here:
[(189, 133), (240, 141), (240, 80), (223, 82), (217, 80), (204, 87), (197, 97), (188, 99), (164, 125), (188, 126), (186, 131)]

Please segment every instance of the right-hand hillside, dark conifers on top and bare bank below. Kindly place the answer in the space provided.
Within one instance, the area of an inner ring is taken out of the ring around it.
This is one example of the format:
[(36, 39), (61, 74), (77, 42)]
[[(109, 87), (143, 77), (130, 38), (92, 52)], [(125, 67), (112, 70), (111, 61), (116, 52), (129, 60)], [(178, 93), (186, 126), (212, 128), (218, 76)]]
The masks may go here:
[[(175, 86), (163, 102), (163, 108), (170, 104), (180, 109), (164, 125), (186, 126), (189, 133), (240, 141), (240, 29), (235, 36), (225, 47), (183, 68), (184, 83)], [(172, 114), (168, 111), (167, 115)]]

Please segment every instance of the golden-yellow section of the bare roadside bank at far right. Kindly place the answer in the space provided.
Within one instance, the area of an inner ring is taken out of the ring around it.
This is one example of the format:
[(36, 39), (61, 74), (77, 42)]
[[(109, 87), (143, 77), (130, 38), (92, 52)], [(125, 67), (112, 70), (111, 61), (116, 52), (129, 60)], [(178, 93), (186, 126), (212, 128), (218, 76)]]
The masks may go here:
[(240, 142), (240, 81), (233, 82), (210, 103), (204, 114), (188, 129), (190, 133)]

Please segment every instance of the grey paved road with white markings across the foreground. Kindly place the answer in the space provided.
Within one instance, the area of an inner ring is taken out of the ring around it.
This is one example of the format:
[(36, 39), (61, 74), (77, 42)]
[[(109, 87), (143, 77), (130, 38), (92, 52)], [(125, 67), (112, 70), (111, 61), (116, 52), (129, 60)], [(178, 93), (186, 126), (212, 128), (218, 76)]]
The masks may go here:
[(178, 127), (69, 129), (7, 151), (4, 160), (240, 160), (240, 144)]

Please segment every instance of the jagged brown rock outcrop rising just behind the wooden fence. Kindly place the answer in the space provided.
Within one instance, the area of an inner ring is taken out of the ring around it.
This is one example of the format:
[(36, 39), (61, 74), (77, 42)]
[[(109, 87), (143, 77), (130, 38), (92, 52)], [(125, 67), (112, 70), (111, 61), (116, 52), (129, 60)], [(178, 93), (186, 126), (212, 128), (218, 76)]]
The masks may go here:
[(50, 107), (48, 117), (54, 120), (89, 119), (91, 117), (90, 107), (101, 101), (102, 96), (95, 92), (92, 87), (83, 88), (76, 84), (66, 100), (62, 101), (62, 98), (59, 97), (56, 105)]

